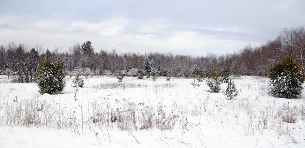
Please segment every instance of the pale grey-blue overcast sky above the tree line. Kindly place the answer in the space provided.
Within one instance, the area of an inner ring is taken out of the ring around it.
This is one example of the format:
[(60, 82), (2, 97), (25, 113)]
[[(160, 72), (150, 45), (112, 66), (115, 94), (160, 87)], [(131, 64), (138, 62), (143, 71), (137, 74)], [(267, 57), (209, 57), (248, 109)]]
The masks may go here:
[(305, 1), (0, 0), (0, 44), (218, 55), (305, 24)]

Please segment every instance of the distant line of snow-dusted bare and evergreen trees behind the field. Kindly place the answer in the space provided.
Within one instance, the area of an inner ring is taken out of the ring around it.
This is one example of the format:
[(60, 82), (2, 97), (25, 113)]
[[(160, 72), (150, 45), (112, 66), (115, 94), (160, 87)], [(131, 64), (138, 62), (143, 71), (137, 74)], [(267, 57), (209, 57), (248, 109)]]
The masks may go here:
[(267, 76), (269, 65), (291, 54), (303, 69), (305, 67), (305, 28), (284, 28), (274, 40), (260, 46), (247, 45), (233, 53), (217, 56), (179, 55), (159, 52), (117, 53), (115, 49), (97, 51), (90, 41), (75, 44), (65, 52), (55, 48), (42, 51), (42, 45), (29, 47), (14, 42), (0, 45), (0, 74), (15, 75), (18, 82), (33, 82), (39, 61), (45, 57), (60, 60), (69, 75), (76, 71), (82, 75), (115, 75), (122, 71), (134, 75), (138, 70), (145, 74), (173, 77), (193, 77), (198, 70), (204, 73), (229, 71), (236, 75)]

